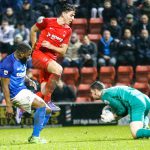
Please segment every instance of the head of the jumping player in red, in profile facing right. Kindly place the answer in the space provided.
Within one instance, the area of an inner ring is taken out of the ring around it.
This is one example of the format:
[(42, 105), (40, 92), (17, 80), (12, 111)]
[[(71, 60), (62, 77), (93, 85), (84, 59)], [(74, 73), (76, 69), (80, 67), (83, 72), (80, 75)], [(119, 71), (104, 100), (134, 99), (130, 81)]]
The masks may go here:
[(63, 2), (59, 12), (59, 17), (61, 16), (65, 24), (69, 25), (74, 19), (75, 11), (76, 11), (75, 5)]

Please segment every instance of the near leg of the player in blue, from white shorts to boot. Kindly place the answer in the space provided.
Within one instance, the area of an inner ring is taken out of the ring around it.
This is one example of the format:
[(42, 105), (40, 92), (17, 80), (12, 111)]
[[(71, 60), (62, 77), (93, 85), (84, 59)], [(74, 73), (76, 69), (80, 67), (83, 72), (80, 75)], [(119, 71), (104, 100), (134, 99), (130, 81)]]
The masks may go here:
[(30, 143), (46, 143), (45, 140), (40, 138), (40, 132), (45, 122), (46, 113), (51, 113), (47, 104), (40, 97), (27, 89), (20, 91), (13, 99), (13, 103), (28, 113), (31, 113), (31, 107), (36, 108), (36, 112), (34, 114), (33, 133), (28, 140)]

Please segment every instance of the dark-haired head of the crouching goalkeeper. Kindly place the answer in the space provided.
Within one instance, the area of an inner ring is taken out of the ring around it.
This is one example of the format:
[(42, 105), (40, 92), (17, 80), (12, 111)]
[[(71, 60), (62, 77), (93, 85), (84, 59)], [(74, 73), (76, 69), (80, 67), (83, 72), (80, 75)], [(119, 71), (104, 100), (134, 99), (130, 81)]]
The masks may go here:
[(91, 84), (90, 88), (92, 98), (99, 100), (102, 90), (105, 89), (105, 85), (102, 82), (95, 81)]

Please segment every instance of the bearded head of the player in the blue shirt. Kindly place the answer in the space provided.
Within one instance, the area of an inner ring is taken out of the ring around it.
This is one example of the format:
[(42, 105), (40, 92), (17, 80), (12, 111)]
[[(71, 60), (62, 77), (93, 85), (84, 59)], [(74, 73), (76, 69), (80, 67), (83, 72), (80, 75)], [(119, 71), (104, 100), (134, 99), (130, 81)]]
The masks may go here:
[(15, 53), (17, 55), (17, 58), (22, 62), (26, 63), (27, 59), (32, 54), (32, 48), (29, 44), (25, 42), (21, 42), (17, 45)]

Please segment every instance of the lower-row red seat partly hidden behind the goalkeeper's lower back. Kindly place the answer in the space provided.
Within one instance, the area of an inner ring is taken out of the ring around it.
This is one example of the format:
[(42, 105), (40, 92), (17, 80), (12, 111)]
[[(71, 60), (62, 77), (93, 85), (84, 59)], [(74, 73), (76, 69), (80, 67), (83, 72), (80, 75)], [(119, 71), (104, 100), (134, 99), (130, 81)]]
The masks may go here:
[(139, 91), (143, 92), (144, 94), (148, 95), (150, 94), (150, 86), (146, 82), (135, 82), (133, 87), (135, 89), (138, 89)]

